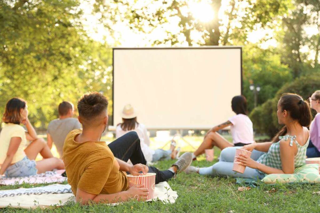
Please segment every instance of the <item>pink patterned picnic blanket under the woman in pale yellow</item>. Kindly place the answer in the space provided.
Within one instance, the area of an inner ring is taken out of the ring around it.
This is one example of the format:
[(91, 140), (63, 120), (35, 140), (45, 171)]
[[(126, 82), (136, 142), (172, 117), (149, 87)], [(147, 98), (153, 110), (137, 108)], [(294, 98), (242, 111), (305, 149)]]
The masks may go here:
[(29, 177), (1, 178), (0, 185), (15, 185), (22, 183), (62, 183), (67, 180), (66, 177), (61, 176), (64, 171), (65, 170), (46, 171)]

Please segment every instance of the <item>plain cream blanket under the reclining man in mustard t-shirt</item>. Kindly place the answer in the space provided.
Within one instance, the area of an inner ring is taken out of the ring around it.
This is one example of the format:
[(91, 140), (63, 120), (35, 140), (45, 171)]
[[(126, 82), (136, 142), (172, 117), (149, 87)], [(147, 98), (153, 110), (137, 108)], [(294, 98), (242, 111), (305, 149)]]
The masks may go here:
[[(66, 186), (66, 185), (65, 185)], [(44, 188), (37, 187), (37, 188)], [(14, 189), (17, 190), (17, 189)], [(6, 190), (7, 191), (7, 190)], [(13, 191), (13, 190), (11, 190)], [(167, 182), (161, 182), (155, 186), (155, 200), (160, 200), (163, 203), (174, 203), (178, 198), (176, 191), (173, 191)], [(0, 208), (52, 208), (55, 206), (63, 206), (68, 202), (74, 202), (75, 197), (72, 193), (64, 194), (23, 194), (13, 197), (0, 198)], [(148, 200), (152, 201), (152, 200)], [(118, 205), (112, 203), (111, 205)]]

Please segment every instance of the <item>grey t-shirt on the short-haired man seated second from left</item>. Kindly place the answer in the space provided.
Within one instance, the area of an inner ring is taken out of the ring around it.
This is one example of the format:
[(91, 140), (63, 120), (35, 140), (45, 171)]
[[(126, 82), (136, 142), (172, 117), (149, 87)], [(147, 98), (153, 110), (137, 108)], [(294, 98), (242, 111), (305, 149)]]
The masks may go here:
[(64, 140), (68, 133), (74, 129), (80, 129), (81, 124), (76, 118), (55, 119), (48, 125), (47, 133), (51, 135), (52, 141), (57, 147), (60, 158), (62, 158), (62, 149)]

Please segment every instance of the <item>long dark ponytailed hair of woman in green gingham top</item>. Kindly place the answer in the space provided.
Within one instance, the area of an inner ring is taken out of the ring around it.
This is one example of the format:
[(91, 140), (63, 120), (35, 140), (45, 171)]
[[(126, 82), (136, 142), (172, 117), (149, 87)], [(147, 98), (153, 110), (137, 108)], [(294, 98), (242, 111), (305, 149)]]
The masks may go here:
[[(281, 110), (288, 111), (290, 117), (293, 120), (299, 122), (301, 126), (310, 126), (312, 115), (308, 102), (304, 101), (300, 95), (292, 94), (292, 93), (284, 93), (282, 94), (279, 106)], [(276, 136), (272, 139), (272, 142), (275, 143), (279, 140), (279, 136), (283, 136), (287, 133), (287, 127), (284, 126), (281, 130), (276, 134)]]

